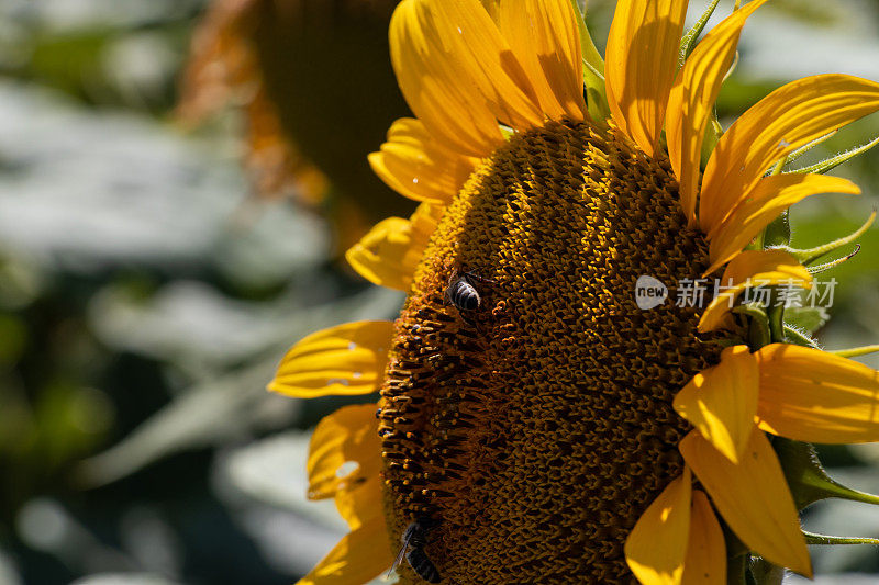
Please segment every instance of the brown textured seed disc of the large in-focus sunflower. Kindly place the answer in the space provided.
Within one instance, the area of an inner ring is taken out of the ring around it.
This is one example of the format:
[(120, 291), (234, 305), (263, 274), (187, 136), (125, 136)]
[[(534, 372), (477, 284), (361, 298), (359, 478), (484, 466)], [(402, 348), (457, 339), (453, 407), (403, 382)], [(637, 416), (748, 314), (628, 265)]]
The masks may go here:
[[(394, 539), (439, 520), (424, 552), (444, 583), (633, 582), (625, 538), (682, 469), (671, 401), (717, 359), (674, 296), (708, 265), (668, 161), (619, 132), (548, 123), (500, 148), (397, 323), (379, 414)], [(461, 274), (474, 311), (446, 292)], [(638, 308), (641, 275), (671, 297)]]

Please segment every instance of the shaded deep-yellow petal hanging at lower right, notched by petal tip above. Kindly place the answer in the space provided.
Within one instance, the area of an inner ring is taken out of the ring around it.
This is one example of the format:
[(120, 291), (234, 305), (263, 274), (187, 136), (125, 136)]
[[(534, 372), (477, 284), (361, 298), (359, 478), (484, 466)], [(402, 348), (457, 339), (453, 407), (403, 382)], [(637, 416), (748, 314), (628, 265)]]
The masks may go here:
[(754, 428), (738, 464), (722, 457), (697, 430), (683, 438), (680, 452), (742, 542), (770, 563), (812, 576), (790, 488), (760, 430)]

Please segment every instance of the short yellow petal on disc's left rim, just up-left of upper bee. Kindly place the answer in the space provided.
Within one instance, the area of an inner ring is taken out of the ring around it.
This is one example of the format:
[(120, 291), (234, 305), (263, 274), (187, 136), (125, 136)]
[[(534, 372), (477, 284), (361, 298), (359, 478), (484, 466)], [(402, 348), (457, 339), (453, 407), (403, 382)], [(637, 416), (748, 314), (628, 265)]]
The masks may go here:
[(422, 203), (409, 220), (382, 220), (345, 252), (345, 259), (369, 282), (407, 292), (444, 211)]

